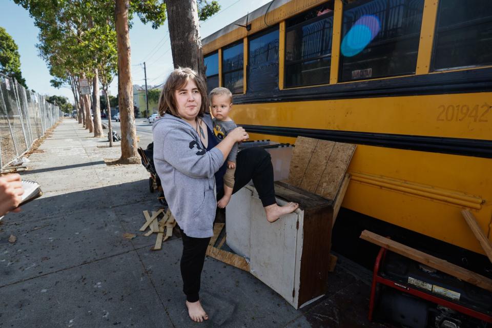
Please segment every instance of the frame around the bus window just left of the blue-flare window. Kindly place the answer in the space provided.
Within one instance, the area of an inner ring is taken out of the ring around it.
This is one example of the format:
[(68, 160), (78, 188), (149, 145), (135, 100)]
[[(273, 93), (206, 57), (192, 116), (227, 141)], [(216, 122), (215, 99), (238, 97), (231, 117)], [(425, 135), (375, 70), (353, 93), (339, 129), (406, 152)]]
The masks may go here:
[[(306, 11), (303, 11), (303, 12), (300, 12), (298, 14), (296, 14), (295, 16), (297, 15), (302, 15), (302, 14), (305, 14), (307, 11), (310, 11), (310, 10), (313, 10), (313, 9), (316, 9), (317, 7), (314, 7), (314, 8), (311, 8), (311, 9), (308, 9)], [(300, 22), (300, 23), (297, 23), (295, 25), (292, 25), (290, 27), (287, 27), (287, 21), (293, 17), (290, 17), (290, 18), (287, 18), (285, 19), (285, 33), (284, 33), (284, 45), (287, 44), (287, 33), (301, 25), (306, 25), (306, 24), (312, 24), (314, 22), (316, 22), (316, 20), (321, 20), (321, 19), (324, 19), (324, 18), (327, 18), (328, 16), (326, 15), (329, 15), (331, 14), (331, 17), (332, 18), (332, 47), (330, 49), (330, 54), (327, 54), (327, 55), (322, 55), (322, 56), (317, 56), (317, 57), (312, 57), (312, 58), (308, 58), (308, 59), (298, 59), (298, 60), (293, 60), (291, 61), (289, 64), (287, 64), (287, 47), (284, 46), (283, 47), (283, 88), (284, 89), (294, 89), (294, 88), (308, 88), (308, 87), (316, 87), (316, 86), (324, 86), (324, 85), (329, 85), (330, 84), (330, 75), (328, 76), (328, 80), (326, 83), (322, 83), (322, 84), (308, 84), (308, 85), (302, 85), (302, 86), (291, 86), (291, 87), (287, 87), (286, 86), (286, 79), (287, 79), (287, 66), (289, 65), (296, 65), (296, 64), (299, 64), (299, 63), (304, 63), (306, 61), (312, 61), (312, 60), (318, 60), (318, 59), (323, 59), (323, 58), (327, 58), (327, 57), (330, 57), (330, 71), (332, 69), (332, 65), (331, 65), (331, 57), (332, 57), (332, 53), (333, 53), (333, 29), (334, 29), (334, 26), (335, 26), (335, 22), (334, 22), (334, 19), (335, 19), (335, 9), (333, 9), (331, 12), (329, 13), (325, 13), (325, 14), (322, 14), (320, 16), (317, 16), (317, 17), (313, 17), (311, 19), (308, 19), (308, 20), (304, 20), (304, 22)]]

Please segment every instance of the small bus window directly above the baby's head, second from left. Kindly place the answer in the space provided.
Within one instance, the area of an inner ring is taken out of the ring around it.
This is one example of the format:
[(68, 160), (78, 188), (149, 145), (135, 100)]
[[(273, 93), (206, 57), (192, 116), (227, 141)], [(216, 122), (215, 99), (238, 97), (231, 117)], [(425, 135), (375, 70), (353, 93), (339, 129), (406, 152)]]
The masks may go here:
[(242, 93), (243, 43), (222, 49), (222, 85), (233, 94)]

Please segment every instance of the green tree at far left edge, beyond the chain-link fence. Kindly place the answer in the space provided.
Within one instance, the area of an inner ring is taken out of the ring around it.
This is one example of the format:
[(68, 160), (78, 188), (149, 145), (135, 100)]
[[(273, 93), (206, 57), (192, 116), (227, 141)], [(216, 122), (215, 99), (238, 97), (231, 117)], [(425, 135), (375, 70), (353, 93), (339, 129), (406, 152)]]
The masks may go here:
[(12, 36), (0, 27), (0, 73), (14, 77), (18, 83), (27, 88), (26, 80), (20, 73), (20, 55)]

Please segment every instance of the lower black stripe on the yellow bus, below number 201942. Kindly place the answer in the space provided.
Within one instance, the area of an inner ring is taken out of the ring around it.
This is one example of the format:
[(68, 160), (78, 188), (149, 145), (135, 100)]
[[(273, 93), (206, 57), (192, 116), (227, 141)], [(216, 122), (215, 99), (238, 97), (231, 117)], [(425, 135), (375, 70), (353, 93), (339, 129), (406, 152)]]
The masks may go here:
[(304, 136), (316, 139), (348, 142), (351, 144), (417, 150), (464, 156), (492, 158), (492, 141), (464, 138), (427, 137), (405, 134), (387, 134), (336, 130), (265, 127), (239, 125), (250, 133), (285, 137)]

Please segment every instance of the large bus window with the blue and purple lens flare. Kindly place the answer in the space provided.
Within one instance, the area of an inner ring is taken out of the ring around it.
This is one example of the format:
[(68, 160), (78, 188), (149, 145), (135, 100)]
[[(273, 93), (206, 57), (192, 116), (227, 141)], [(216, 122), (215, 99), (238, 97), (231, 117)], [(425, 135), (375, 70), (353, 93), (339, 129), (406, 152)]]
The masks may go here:
[(340, 81), (414, 74), (424, 0), (357, 1), (343, 11)]

